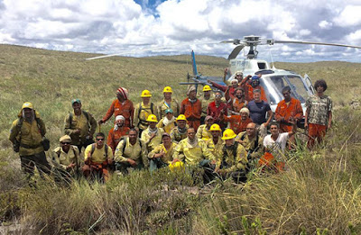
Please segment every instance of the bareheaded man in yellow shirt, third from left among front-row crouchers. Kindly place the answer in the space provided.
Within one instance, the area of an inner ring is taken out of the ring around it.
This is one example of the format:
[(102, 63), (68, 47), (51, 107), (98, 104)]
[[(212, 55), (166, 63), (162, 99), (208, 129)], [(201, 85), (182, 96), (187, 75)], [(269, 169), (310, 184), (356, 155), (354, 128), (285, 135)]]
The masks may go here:
[(136, 129), (131, 129), (129, 137), (120, 140), (116, 147), (116, 170), (124, 175), (128, 174), (128, 168), (142, 169), (149, 165), (146, 145), (138, 138), (138, 135)]

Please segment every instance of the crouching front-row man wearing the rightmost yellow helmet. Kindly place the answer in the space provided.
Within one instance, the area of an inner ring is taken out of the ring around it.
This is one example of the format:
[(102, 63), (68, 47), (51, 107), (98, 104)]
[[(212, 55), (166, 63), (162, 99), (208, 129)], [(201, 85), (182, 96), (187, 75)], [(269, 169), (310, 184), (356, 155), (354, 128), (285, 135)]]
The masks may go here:
[(231, 176), (236, 183), (240, 183), (246, 180), (247, 152), (235, 138), (236, 133), (232, 129), (223, 132), (222, 140), (225, 140), (225, 144), (215, 172), (223, 179)]

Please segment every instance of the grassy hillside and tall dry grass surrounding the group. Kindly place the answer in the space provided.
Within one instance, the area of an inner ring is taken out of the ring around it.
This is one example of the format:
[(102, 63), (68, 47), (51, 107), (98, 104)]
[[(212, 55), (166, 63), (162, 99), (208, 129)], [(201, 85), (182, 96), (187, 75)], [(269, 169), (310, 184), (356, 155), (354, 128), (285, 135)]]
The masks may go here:
[[(27, 186), (8, 137), (25, 101), (34, 104), (47, 125), (51, 149), (57, 146), (70, 100), (99, 120), (116, 88), (128, 88), (140, 101), (145, 88), (153, 100), (171, 86), (184, 97), (190, 57), (112, 58), (0, 45), (0, 232), (26, 234), (360, 234), (361, 111), (360, 64), (276, 63), (277, 68), (325, 78), (335, 101), (335, 122), (323, 146), (310, 152), (300, 145), (282, 174), (255, 172), (245, 185), (230, 181), (211, 186), (163, 169), (153, 176), (134, 172), (106, 185), (82, 180), (56, 185), (51, 178)], [(226, 59), (197, 57), (199, 72), (221, 76)], [(350, 105), (352, 103), (352, 105)], [(107, 132), (112, 121), (102, 126)], [(12, 225), (13, 223), (13, 225)], [(19, 223), (20, 226), (14, 226)]]

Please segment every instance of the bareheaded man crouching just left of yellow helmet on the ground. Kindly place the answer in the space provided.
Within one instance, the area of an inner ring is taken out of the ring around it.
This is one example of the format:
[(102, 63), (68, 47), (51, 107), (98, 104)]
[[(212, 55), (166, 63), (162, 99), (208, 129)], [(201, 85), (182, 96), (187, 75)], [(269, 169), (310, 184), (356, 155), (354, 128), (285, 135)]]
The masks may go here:
[(162, 144), (155, 147), (149, 154), (149, 170), (154, 170), (167, 167), (173, 160), (174, 148), (177, 146), (176, 143), (171, 141), (171, 135), (168, 133), (162, 134)]

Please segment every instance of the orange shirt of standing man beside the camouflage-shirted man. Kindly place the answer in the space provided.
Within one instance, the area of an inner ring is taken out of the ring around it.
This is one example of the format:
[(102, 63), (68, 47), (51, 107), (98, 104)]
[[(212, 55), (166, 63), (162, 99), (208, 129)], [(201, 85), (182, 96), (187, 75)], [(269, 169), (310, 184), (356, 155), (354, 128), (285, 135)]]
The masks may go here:
[[(277, 122), (280, 122), (282, 118), (284, 122), (280, 123), (280, 128), (282, 131), (291, 131), (292, 125), (287, 124), (289, 119), (292, 117), (293, 119), (300, 120), (303, 116), (301, 102), (295, 98), (291, 98), (289, 104), (287, 104), (284, 100), (277, 104), (276, 111), (274, 113), (274, 119)], [(285, 123), (286, 122), (286, 123)]]

